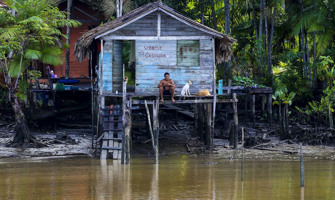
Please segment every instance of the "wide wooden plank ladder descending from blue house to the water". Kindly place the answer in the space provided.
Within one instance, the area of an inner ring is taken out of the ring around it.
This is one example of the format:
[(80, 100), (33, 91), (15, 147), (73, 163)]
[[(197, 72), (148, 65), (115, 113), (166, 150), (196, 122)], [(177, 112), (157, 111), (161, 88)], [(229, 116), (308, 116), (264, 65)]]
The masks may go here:
[(102, 138), (100, 159), (105, 160), (107, 152), (113, 152), (113, 159), (121, 159), (122, 150), (122, 108), (120, 105), (105, 106), (104, 136)]

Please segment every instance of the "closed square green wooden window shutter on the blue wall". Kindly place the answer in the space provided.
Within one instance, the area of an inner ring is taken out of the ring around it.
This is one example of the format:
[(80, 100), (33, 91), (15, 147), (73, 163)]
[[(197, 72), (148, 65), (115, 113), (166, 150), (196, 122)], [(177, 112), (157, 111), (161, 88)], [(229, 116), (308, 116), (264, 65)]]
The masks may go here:
[(177, 66), (199, 66), (199, 40), (177, 40)]

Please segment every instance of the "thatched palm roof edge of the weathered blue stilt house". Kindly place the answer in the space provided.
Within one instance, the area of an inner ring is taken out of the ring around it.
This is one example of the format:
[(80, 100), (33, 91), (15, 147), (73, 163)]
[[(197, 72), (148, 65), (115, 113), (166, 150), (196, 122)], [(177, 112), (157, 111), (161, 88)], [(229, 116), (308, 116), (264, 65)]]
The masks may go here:
[(119, 18), (116, 18), (113, 21), (107, 22), (102, 26), (97, 26), (90, 31), (87, 31), (82, 36), (80, 36), (77, 41), (74, 43), (74, 54), (76, 55), (76, 60), (82, 62), (86, 57), (89, 46), (92, 41), (98, 37), (104, 36), (113, 29), (124, 25), (127, 22), (130, 22), (143, 13), (148, 13), (153, 10), (160, 9), (163, 12), (173, 14), (174, 16), (183, 19), (184, 23), (193, 26), (197, 29), (205, 31), (209, 34), (215, 36), (215, 63), (222, 63), (223, 61), (228, 61), (229, 56), (231, 55), (231, 46), (236, 40), (230, 37), (229, 35), (218, 32), (214, 29), (211, 29), (201, 23), (198, 23), (191, 18), (181, 14), (180, 12), (170, 8), (169, 6), (163, 4), (160, 0), (146, 4), (142, 7), (139, 7)]

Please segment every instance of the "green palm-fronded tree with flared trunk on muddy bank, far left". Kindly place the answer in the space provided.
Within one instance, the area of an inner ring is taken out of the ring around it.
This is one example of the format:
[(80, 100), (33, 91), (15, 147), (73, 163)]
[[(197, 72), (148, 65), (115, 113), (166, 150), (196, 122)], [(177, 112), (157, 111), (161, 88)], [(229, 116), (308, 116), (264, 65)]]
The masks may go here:
[[(23, 75), (40, 76), (36, 70), (26, 71), (33, 60), (46, 64), (64, 63), (63, 35), (60, 28), (79, 26), (80, 23), (66, 19), (66, 12), (59, 11), (53, 0), (6, 0), (11, 12), (0, 9), (0, 66), (9, 90), (9, 102), (15, 113), (16, 132), (12, 144), (29, 145), (36, 142), (29, 132), (20, 100), (26, 98), (16, 92)], [(13, 13), (13, 14), (12, 14)], [(22, 87), (22, 85), (21, 85)]]

